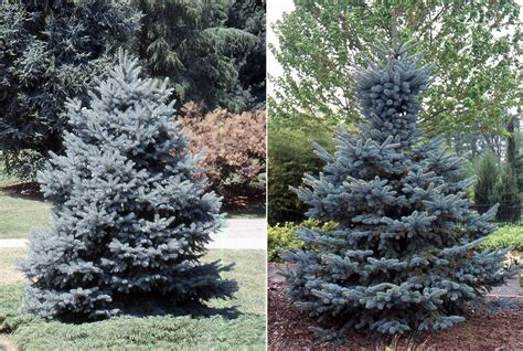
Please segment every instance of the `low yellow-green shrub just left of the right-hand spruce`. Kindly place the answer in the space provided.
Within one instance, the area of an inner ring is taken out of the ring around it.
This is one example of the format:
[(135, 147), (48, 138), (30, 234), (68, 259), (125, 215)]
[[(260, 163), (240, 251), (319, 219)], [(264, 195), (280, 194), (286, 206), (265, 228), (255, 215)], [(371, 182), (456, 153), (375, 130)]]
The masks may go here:
[(287, 222), (274, 226), (269, 225), (267, 230), (267, 251), (269, 262), (281, 262), (280, 254), (285, 251), (303, 248), (303, 242), (301, 242), (296, 235), (296, 231), (300, 227), (329, 231), (335, 227), (335, 223), (320, 223), (318, 221), (307, 220), (300, 224)]

